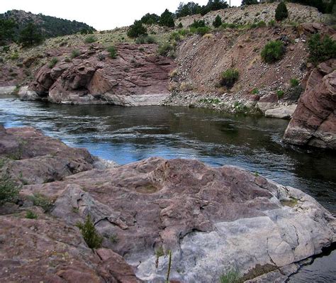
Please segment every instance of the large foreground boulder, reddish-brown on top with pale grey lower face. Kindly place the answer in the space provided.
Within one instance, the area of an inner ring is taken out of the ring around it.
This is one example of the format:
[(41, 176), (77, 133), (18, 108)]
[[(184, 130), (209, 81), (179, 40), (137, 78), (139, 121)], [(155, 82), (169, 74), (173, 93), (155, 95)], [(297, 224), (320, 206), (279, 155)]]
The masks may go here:
[(307, 194), (196, 160), (152, 157), (23, 191), (36, 192), (56, 196), (51, 213), (69, 225), (91, 215), (103, 246), (146, 282), (164, 282), (168, 250), (179, 282), (218, 282), (232, 268), (245, 279), (269, 271), (284, 279), (336, 240), (335, 218)]

